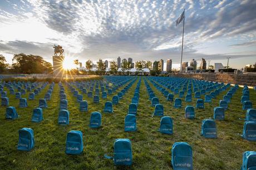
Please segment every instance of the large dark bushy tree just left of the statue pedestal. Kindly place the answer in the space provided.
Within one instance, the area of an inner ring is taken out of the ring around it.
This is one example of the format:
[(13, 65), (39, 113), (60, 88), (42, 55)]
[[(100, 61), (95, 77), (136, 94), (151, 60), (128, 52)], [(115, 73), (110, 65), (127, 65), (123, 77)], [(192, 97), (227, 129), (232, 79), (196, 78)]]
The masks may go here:
[(16, 73), (51, 73), (52, 64), (45, 61), (41, 56), (24, 53), (14, 54), (12, 68)]

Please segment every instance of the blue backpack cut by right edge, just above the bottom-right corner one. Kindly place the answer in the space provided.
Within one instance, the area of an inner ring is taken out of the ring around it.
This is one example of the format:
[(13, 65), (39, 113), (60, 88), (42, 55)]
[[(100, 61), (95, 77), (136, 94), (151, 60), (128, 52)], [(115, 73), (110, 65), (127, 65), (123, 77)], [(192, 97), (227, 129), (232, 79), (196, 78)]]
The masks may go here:
[(256, 141), (256, 122), (244, 122), (242, 137), (248, 141)]

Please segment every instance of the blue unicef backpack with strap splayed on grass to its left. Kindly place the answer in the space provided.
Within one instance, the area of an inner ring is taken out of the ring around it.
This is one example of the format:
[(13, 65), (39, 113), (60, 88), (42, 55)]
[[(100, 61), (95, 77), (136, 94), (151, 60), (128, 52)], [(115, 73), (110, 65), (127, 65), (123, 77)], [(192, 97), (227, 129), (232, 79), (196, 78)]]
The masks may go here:
[(116, 166), (131, 166), (132, 165), (132, 149), (129, 139), (116, 139), (114, 143), (114, 157), (104, 155), (107, 159), (114, 159)]

